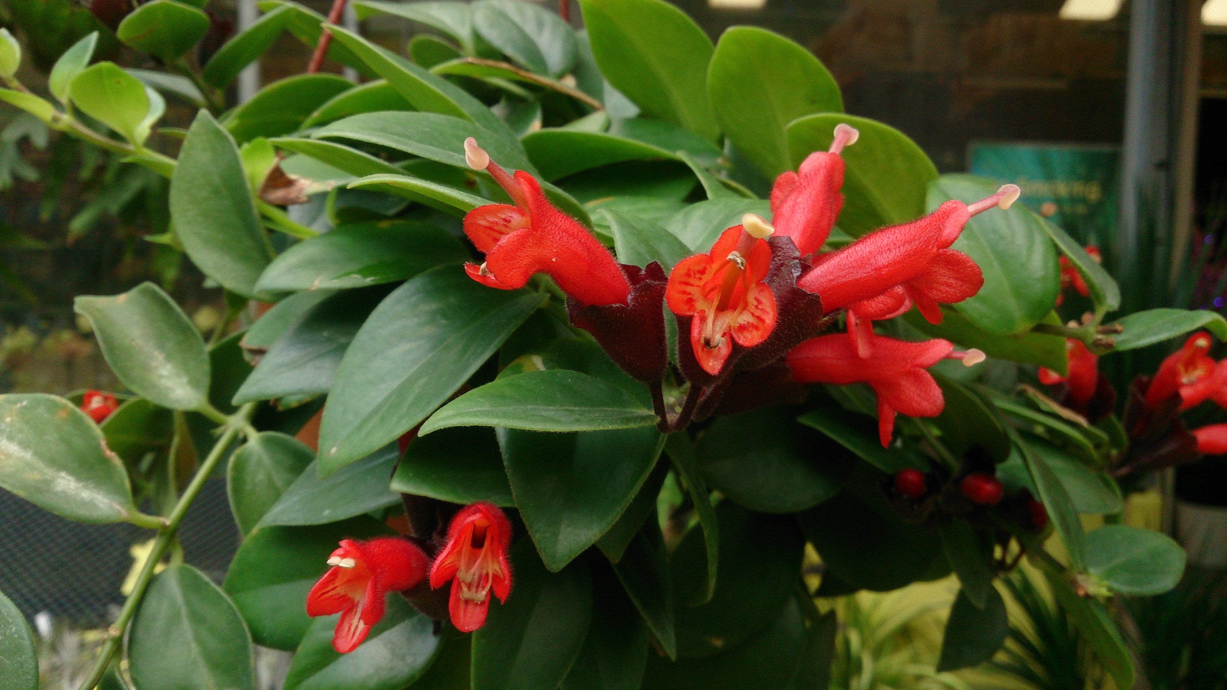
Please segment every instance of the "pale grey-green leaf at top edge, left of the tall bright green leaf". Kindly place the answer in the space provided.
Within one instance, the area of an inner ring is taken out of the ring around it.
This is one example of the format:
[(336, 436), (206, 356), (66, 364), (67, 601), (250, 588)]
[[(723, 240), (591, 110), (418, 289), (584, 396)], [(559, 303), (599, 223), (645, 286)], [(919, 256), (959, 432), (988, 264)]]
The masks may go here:
[(575, 64), (575, 32), (555, 12), (517, 0), (472, 4), (472, 27), (530, 71), (560, 77)]

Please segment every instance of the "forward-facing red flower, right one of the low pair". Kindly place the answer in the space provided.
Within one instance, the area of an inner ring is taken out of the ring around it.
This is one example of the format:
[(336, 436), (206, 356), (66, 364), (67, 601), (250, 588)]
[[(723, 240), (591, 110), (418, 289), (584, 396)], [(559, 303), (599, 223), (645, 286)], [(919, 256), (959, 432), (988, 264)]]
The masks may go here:
[(492, 503), (472, 503), (452, 518), (447, 546), (431, 567), (431, 588), (452, 581), (448, 611), (456, 630), (472, 632), (486, 622), (491, 591), (499, 602), (512, 593), (510, 544), (512, 524)]

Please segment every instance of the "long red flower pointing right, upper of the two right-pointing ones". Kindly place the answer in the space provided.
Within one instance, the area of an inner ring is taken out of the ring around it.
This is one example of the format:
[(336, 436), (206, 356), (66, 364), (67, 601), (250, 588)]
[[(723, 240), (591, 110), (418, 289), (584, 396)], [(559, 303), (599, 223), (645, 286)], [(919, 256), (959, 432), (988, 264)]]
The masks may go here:
[(820, 257), (798, 286), (818, 295), (827, 312), (845, 307), (849, 335), (861, 356), (869, 356), (872, 324), (863, 322), (898, 316), (914, 303), (930, 323), (941, 323), (939, 303), (979, 292), (980, 268), (948, 247), (972, 216), (994, 206), (1009, 209), (1020, 193), (1006, 184), (972, 205), (950, 200), (923, 219), (876, 230)]

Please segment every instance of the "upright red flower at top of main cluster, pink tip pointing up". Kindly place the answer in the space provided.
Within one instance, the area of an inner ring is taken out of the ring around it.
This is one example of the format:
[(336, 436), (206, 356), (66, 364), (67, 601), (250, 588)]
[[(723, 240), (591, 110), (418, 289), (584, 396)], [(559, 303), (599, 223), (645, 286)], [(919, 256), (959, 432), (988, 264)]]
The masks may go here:
[(836, 138), (827, 151), (815, 151), (798, 172), (785, 172), (775, 178), (771, 190), (772, 222), (780, 237), (791, 237), (801, 257), (822, 248), (843, 207), (844, 163), (839, 153), (856, 142), (855, 129), (836, 125)]

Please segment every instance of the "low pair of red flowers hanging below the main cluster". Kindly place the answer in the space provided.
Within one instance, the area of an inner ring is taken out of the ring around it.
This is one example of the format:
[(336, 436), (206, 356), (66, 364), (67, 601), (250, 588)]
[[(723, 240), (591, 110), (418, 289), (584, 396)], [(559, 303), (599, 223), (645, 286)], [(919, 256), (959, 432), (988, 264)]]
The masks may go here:
[(510, 541), (507, 516), (486, 502), (466, 506), (452, 518), (433, 562), (422, 545), (407, 538), (345, 539), (329, 556), (329, 571), (307, 595), (307, 615), (341, 614), (333, 648), (345, 654), (383, 618), (388, 593), (428, 582), (431, 589), (450, 586), (452, 624), (461, 632), (472, 632), (486, 622), (491, 594), (506, 602), (512, 592)]

